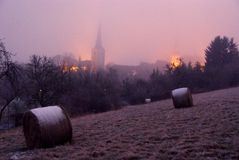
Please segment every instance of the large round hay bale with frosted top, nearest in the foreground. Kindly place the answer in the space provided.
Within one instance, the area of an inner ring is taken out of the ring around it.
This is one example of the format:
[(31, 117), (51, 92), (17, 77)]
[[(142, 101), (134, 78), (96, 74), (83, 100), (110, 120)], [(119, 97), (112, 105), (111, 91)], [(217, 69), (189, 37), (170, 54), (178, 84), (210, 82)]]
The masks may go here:
[(72, 126), (59, 106), (36, 108), (23, 116), (23, 132), (27, 147), (46, 148), (71, 142)]

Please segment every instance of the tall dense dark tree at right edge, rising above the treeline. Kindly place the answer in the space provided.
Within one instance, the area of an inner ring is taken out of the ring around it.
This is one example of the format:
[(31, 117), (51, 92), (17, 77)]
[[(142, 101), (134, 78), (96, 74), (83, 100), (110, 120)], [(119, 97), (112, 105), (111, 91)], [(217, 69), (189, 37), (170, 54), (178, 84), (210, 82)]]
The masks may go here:
[[(205, 74), (211, 89), (227, 87), (239, 63), (239, 51), (234, 40), (217, 36), (205, 51)], [(234, 82), (235, 83), (235, 82)]]

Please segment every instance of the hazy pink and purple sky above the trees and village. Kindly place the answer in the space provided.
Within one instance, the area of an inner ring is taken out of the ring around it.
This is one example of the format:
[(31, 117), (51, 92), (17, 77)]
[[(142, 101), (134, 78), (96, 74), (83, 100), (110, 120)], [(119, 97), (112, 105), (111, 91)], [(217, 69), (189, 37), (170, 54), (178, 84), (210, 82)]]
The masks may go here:
[(89, 59), (101, 23), (106, 62), (204, 60), (217, 35), (239, 43), (239, 0), (0, 0), (0, 39), (32, 54)]

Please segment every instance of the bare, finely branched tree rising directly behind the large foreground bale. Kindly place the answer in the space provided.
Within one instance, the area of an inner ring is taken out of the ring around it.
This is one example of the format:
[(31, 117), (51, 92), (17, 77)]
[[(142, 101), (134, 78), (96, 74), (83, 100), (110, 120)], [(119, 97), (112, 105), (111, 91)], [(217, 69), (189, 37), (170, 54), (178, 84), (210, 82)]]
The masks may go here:
[(27, 64), (28, 94), (41, 106), (56, 104), (64, 92), (64, 75), (51, 58), (33, 55)]

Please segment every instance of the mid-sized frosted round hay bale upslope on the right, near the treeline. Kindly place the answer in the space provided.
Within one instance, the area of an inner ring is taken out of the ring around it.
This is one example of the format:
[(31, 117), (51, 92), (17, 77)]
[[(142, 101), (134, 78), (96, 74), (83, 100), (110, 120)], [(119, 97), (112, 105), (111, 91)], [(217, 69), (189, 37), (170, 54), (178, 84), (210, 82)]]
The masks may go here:
[(178, 88), (172, 91), (172, 99), (175, 108), (193, 106), (193, 98), (188, 88)]

